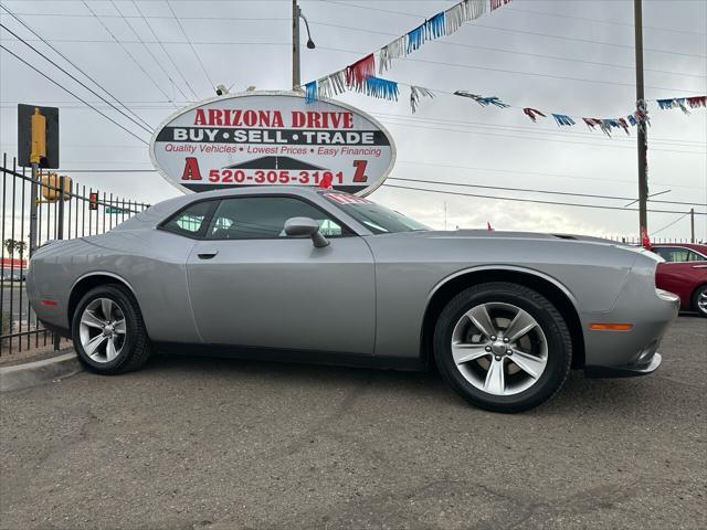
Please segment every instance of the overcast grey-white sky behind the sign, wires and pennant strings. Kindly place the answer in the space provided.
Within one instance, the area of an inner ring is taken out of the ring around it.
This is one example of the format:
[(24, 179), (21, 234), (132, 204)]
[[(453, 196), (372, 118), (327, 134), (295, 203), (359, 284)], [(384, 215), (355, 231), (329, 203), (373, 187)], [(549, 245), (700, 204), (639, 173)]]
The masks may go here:
[[(232, 92), (249, 86), (291, 87), (288, 0), (0, 3), (152, 127), (178, 107), (212, 97), (214, 84), (233, 85)], [(303, 83), (342, 68), (454, 3), (300, 0), (317, 45), (315, 50), (303, 46)], [(75, 73), (4, 11), (0, 11), (0, 20)], [(149, 139), (10, 33), (1, 31), (0, 40)], [(707, 93), (707, 1), (644, 0), (644, 46), (646, 98)], [(532, 124), (520, 110), (532, 107), (571, 116), (625, 116), (635, 100), (633, 66), (633, 1), (514, 0), (465, 24), (454, 35), (397, 61), (387, 72), (388, 78), (439, 91), (437, 97), (422, 102), (416, 114), (410, 112), (405, 87), (398, 103), (356, 94), (340, 99), (371, 113), (391, 131), (398, 147), (392, 178), (635, 198), (635, 130), (631, 137), (616, 132), (606, 138), (579, 124), (562, 129), (549, 119)], [(483, 108), (450, 94), (457, 89), (498, 96), (519, 108)], [(61, 108), (62, 168), (75, 181), (146, 202), (179, 193), (154, 172), (95, 172), (151, 169), (147, 147), (0, 51), (0, 150), (11, 156), (17, 152), (18, 103)], [(696, 211), (707, 211), (707, 109), (685, 116), (679, 109), (659, 110), (654, 102), (648, 108), (651, 193), (671, 190), (656, 199), (693, 203)], [(400, 180), (388, 183), (582, 204), (623, 206), (627, 202)], [(637, 212), (629, 210), (391, 187), (380, 188), (372, 199), (440, 229), (446, 219), (449, 229), (485, 227), (490, 222), (497, 230), (629, 236), (637, 232)], [(689, 210), (688, 204), (657, 202), (650, 208)], [(650, 213), (651, 232), (659, 232), (661, 237), (688, 237), (689, 219), (679, 219), (682, 215)], [(696, 224), (697, 237), (707, 239), (707, 216), (697, 216)]]

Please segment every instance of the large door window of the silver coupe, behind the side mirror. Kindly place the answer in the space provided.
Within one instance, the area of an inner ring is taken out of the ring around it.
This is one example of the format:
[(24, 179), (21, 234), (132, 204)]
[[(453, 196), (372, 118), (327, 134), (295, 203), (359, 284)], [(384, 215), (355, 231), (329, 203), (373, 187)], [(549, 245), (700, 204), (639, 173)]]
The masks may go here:
[(350, 235), (323, 210), (292, 197), (243, 197), (224, 199), (213, 214), (207, 240), (270, 240), (287, 237), (285, 221), (310, 218), (326, 237)]

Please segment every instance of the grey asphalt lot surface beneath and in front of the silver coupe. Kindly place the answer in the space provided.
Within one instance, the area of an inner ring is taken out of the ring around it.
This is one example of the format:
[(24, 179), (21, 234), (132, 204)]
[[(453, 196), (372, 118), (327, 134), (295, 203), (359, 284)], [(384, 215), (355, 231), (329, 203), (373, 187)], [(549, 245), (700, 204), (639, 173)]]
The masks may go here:
[(707, 320), (647, 378), (573, 373), (520, 415), (436, 374), (159, 357), (2, 394), (0, 524), (707, 527)]

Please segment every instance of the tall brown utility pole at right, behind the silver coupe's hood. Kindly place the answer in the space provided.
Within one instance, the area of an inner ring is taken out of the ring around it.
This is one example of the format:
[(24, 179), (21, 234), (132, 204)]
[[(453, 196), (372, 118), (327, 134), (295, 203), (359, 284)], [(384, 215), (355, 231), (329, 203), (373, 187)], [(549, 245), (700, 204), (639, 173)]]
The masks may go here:
[[(635, 25), (635, 49), (636, 49), (636, 109), (645, 112), (645, 94), (643, 89), (643, 0), (633, 0), (633, 17)], [(646, 131), (647, 124), (639, 121), (639, 234), (643, 236), (648, 230), (648, 174), (647, 174), (647, 150), (648, 139)]]

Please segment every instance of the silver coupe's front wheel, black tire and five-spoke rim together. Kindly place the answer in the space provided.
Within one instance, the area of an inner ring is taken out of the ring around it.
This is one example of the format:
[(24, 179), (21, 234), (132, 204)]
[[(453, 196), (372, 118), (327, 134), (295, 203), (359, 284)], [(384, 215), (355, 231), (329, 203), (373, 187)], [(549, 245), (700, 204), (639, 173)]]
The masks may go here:
[(572, 341), (547, 298), (493, 282), (463, 290), (445, 306), (434, 330), (434, 358), (444, 380), (469, 403), (520, 412), (560, 390)]

